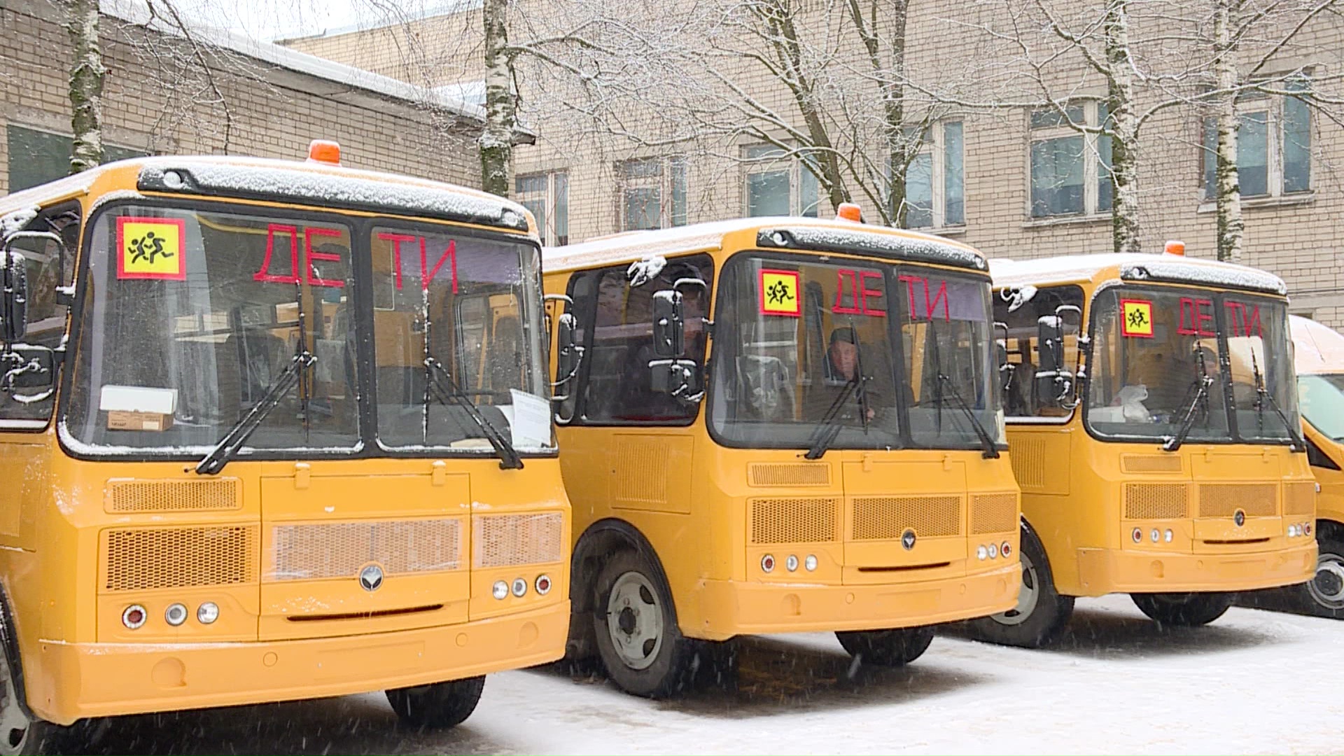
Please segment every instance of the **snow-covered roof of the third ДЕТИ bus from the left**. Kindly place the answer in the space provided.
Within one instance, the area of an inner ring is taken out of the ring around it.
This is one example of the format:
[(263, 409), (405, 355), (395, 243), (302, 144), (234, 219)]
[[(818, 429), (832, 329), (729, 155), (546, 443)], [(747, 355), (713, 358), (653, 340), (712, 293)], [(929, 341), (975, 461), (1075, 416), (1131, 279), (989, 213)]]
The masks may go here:
[(1128, 281), (1191, 282), (1288, 293), (1288, 284), (1273, 273), (1231, 262), (1173, 254), (1067, 254), (1035, 260), (996, 257), (989, 261), (989, 274), (996, 287), (1093, 281), (1105, 274), (1106, 278), (1120, 277)]

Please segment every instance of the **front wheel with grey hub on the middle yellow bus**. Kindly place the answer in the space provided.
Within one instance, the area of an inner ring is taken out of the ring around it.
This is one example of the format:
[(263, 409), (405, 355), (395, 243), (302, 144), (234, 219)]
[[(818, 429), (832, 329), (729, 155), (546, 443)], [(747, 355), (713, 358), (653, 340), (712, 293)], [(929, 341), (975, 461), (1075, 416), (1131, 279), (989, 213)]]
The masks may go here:
[(704, 663), (708, 646), (681, 636), (663, 573), (632, 550), (617, 552), (598, 572), (593, 630), (607, 677), (633, 695), (684, 693), (700, 667), (716, 666)]

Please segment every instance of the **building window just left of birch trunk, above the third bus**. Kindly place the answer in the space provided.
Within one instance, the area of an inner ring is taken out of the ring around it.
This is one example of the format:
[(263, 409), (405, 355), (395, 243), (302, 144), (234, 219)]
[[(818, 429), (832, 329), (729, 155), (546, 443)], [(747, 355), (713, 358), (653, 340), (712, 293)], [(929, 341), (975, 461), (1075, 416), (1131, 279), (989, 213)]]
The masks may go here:
[(1105, 124), (1106, 105), (1077, 102), (1066, 113), (1054, 108), (1031, 112), (1032, 218), (1110, 211), (1110, 137), (1074, 128)]

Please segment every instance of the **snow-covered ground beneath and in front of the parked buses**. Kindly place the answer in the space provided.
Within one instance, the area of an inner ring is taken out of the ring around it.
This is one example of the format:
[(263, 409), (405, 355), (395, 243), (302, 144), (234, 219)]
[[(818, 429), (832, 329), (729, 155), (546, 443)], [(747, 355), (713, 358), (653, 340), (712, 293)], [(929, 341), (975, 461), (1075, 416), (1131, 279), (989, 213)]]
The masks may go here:
[(491, 675), (446, 733), (380, 694), (134, 717), (109, 753), (746, 756), (1344, 753), (1344, 623), (1231, 609), (1159, 631), (1125, 596), (1078, 603), (1048, 651), (952, 634), (909, 669), (853, 669), (831, 635), (747, 639), (737, 690), (645, 701), (555, 670)]

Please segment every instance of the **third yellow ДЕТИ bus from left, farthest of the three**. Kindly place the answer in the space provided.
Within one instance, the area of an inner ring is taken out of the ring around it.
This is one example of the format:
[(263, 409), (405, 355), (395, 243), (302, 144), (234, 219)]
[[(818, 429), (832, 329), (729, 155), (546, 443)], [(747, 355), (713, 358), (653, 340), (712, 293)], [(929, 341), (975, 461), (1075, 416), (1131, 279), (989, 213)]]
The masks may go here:
[(982, 639), (1043, 646), (1106, 593), (1206, 624), (1312, 577), (1284, 281), (1169, 248), (991, 262), (1023, 591)]

